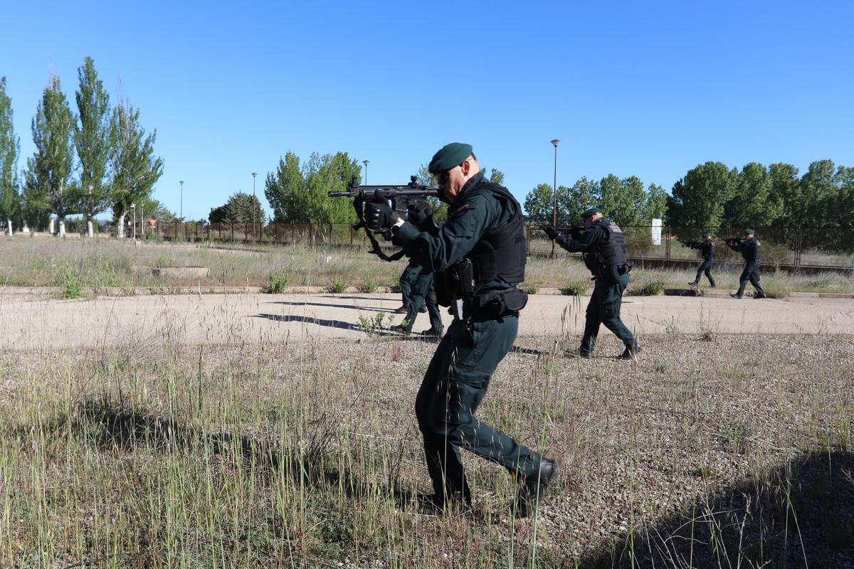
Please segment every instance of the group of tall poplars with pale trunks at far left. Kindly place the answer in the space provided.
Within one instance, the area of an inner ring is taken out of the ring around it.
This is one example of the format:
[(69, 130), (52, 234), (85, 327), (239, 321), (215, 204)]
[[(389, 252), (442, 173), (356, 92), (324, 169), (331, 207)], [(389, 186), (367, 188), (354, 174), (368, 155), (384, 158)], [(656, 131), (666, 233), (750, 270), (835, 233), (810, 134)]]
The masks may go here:
[(73, 113), (60, 78), (51, 74), (32, 119), (36, 151), (23, 171), (18, 171), (20, 136), (13, 128), (12, 102), (6, 78), (0, 79), (0, 219), (10, 235), (14, 227), (46, 227), (51, 214), (61, 235), (70, 215), (82, 215), (92, 235), (92, 220), (111, 209), (123, 236), (132, 207), (167, 213), (151, 199), (163, 173), (163, 160), (154, 153), (157, 131), (145, 132), (139, 110), (124, 96), (110, 105), (91, 57), (78, 68), (78, 78)]

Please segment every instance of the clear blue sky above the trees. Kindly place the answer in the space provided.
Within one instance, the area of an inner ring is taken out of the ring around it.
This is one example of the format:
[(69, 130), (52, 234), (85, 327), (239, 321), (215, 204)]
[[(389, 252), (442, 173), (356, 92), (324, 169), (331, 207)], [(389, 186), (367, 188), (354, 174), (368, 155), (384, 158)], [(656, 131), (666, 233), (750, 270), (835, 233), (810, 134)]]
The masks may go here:
[(553, 138), (567, 186), (613, 173), (669, 191), (708, 160), (854, 166), (848, 0), (49, 0), (3, 16), (19, 166), (51, 71), (76, 109), (88, 55), (111, 102), (121, 89), (157, 131), (154, 198), (190, 219), (251, 194), (251, 172), (269, 213), (264, 179), (289, 150), (406, 183), (469, 142), (519, 200), (552, 183)]

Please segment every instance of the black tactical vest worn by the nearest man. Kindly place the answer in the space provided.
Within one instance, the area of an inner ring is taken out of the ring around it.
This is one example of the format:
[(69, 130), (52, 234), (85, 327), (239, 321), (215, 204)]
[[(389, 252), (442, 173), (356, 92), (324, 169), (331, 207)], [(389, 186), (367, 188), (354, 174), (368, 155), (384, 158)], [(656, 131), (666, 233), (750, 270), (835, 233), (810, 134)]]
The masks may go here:
[(509, 283), (523, 282), (528, 252), (522, 207), (508, 189), (497, 183), (479, 183), (471, 191), (491, 191), (498, 195), (498, 199), (512, 203), (516, 209), (509, 223), (488, 231), (466, 255), (474, 264), (475, 290), (496, 279)]

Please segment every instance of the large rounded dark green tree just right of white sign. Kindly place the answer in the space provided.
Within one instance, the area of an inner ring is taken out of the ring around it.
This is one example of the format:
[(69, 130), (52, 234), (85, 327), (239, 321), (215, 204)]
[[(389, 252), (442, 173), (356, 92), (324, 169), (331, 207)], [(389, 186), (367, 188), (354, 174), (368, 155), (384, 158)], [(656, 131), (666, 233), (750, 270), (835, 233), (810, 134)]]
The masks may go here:
[(718, 227), (723, 205), (732, 198), (738, 171), (721, 162), (706, 162), (689, 170), (673, 185), (667, 202), (671, 225)]

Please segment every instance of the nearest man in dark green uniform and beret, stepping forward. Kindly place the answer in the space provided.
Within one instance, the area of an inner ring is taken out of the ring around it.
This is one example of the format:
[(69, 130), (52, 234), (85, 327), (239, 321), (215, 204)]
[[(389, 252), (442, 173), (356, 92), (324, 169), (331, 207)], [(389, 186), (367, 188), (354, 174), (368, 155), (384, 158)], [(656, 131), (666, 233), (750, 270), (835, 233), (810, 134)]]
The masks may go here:
[(557, 462), (475, 417), (495, 368), (516, 339), (527, 300), (516, 287), (524, 281), (526, 256), (522, 208), (506, 188), (484, 179), (469, 144), (448, 144), (428, 168), (451, 205), (435, 235), (404, 223), (388, 203), (365, 208), (369, 228), (390, 228), (395, 245), (436, 273), (439, 303), (451, 306), (454, 316), (415, 399), (434, 490), (418, 502), (430, 513), (471, 507), (459, 456), (466, 449), (505, 467), (519, 483), (515, 514), (533, 514)]

